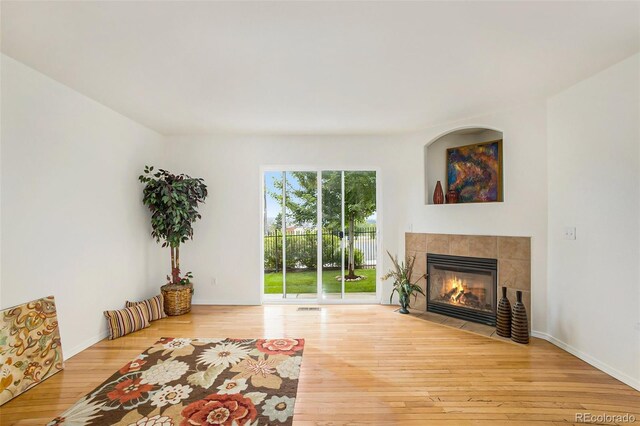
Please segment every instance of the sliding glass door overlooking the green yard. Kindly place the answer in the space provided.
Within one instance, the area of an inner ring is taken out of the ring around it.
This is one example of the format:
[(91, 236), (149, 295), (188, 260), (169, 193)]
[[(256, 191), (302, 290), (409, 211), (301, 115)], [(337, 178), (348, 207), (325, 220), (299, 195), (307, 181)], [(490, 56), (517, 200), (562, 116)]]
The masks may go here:
[(264, 299), (376, 300), (374, 171), (264, 173)]

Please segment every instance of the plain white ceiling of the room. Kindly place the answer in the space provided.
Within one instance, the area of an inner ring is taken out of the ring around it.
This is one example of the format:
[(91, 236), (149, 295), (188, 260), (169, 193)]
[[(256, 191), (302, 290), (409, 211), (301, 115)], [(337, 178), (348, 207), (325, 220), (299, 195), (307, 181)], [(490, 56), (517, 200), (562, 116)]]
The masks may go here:
[(639, 50), (637, 2), (12, 2), (2, 51), (165, 134), (389, 133)]

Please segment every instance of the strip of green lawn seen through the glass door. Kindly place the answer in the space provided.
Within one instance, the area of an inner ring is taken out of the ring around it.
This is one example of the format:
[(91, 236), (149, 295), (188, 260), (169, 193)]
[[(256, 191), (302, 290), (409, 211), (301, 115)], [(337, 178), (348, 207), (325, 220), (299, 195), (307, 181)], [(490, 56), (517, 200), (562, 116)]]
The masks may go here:
[[(322, 288), (325, 293), (340, 293), (340, 271), (322, 271)], [(376, 270), (356, 269), (356, 275), (364, 276), (360, 281), (345, 282), (347, 293), (376, 292)], [(287, 293), (316, 293), (317, 272), (287, 272)], [(282, 272), (264, 274), (265, 294), (282, 294)]]

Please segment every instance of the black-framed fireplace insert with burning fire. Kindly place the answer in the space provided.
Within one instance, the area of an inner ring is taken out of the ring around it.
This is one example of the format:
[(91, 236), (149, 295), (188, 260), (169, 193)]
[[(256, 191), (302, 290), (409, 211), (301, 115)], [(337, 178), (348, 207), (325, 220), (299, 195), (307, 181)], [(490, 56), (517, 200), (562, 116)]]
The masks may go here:
[(496, 259), (427, 253), (427, 311), (496, 325)]

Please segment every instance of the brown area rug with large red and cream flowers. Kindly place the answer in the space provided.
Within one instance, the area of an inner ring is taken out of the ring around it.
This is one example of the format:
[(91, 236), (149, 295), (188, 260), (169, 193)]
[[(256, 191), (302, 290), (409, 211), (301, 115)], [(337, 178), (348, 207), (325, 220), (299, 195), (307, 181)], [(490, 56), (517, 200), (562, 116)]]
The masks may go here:
[(49, 425), (290, 425), (304, 339), (162, 338)]

